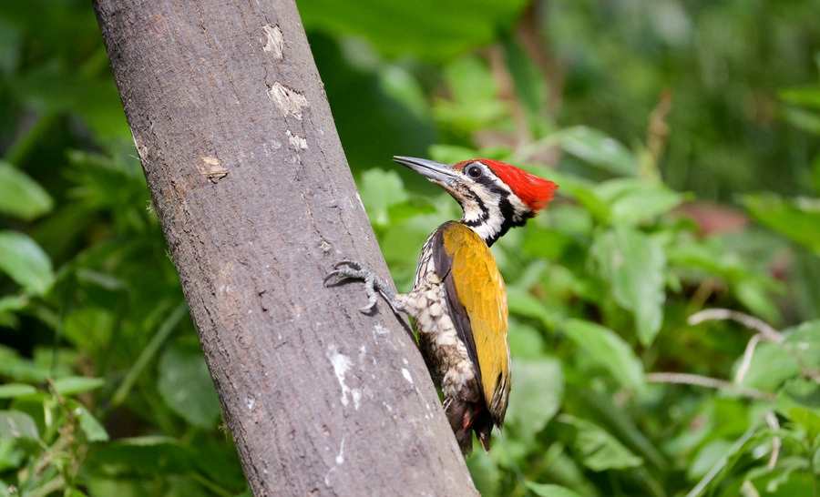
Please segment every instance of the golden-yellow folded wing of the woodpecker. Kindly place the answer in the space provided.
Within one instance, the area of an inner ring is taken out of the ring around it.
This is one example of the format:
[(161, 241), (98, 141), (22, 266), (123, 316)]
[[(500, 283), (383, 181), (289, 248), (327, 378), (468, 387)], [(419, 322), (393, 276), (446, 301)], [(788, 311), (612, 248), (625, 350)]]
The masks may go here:
[(450, 316), (464, 340), (493, 421), (500, 426), (509, 394), (507, 289), (487, 244), (465, 225), (438, 229), (436, 271), (444, 280)]

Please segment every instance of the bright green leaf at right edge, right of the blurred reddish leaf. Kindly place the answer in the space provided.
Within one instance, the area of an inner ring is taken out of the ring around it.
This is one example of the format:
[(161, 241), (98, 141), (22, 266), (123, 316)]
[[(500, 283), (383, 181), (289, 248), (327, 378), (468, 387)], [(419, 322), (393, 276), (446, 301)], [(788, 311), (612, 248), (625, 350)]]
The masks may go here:
[(820, 254), (820, 199), (746, 195), (743, 205), (757, 222)]

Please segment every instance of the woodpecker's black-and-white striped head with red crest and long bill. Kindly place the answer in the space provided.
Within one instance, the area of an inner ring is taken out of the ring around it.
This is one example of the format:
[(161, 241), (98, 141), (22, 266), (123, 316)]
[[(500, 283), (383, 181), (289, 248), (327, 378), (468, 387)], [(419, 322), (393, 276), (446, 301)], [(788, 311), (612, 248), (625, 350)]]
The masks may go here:
[(472, 228), (491, 246), (509, 228), (523, 226), (546, 208), (558, 186), (518, 167), (488, 158), (474, 158), (446, 166), (415, 157), (393, 157), (403, 166), (424, 175), (456, 198)]

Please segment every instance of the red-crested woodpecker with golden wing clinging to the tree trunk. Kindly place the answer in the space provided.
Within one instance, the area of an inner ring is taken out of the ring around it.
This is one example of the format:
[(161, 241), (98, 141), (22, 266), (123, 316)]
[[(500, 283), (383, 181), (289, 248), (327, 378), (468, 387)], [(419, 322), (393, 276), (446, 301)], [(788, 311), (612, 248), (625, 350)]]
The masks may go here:
[(363, 279), (369, 301), (361, 311), (373, 309), (378, 292), (415, 320), (418, 346), (461, 451), (472, 451), (473, 431), (488, 451), (493, 425), (500, 430), (504, 422), (510, 389), (507, 289), (489, 248), (546, 208), (558, 186), (487, 158), (452, 166), (414, 157), (394, 161), (444, 188), (464, 215), (427, 238), (409, 293), (395, 294), (353, 260), (337, 264), (325, 283)]

